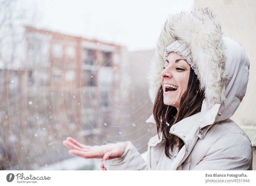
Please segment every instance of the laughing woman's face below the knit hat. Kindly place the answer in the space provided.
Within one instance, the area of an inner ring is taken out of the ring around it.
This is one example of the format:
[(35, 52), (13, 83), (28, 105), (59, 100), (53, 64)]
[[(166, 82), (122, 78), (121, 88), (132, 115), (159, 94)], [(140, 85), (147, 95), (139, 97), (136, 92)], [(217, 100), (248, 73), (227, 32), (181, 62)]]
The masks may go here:
[(180, 98), (188, 89), (190, 65), (180, 54), (171, 52), (164, 62), (161, 82), (164, 90), (164, 104), (179, 110)]

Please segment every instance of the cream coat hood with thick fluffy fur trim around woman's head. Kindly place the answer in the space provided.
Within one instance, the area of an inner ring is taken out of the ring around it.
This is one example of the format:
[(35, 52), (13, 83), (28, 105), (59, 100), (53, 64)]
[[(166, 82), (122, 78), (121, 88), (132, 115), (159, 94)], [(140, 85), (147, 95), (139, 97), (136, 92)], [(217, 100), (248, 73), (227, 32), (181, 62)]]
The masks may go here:
[(178, 39), (190, 46), (199, 72), (200, 89), (205, 89), (200, 127), (228, 119), (245, 95), (249, 59), (239, 43), (222, 35), (219, 23), (208, 9), (170, 15), (165, 21), (148, 74), (151, 102), (154, 103), (161, 86), (164, 51)]

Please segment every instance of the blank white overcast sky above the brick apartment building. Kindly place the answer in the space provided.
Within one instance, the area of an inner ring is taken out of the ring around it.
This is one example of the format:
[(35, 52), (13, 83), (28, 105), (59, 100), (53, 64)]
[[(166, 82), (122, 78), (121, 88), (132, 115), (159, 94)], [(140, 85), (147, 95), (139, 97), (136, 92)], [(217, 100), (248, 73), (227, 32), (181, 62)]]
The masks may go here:
[(166, 17), (191, 9), (193, 0), (28, 0), (28, 4), (37, 10), (38, 28), (113, 42), (133, 51), (152, 49)]

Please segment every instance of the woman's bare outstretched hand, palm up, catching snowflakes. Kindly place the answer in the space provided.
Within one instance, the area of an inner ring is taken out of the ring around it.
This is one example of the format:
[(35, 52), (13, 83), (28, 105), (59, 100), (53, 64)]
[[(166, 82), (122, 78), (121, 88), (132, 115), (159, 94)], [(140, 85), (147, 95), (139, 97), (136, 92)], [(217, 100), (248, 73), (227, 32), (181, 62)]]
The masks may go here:
[(68, 151), (69, 154), (80, 156), (85, 159), (100, 158), (103, 160), (121, 157), (127, 146), (126, 143), (89, 146), (78, 143), (71, 137), (68, 137), (67, 140), (63, 141), (63, 144), (70, 149)]

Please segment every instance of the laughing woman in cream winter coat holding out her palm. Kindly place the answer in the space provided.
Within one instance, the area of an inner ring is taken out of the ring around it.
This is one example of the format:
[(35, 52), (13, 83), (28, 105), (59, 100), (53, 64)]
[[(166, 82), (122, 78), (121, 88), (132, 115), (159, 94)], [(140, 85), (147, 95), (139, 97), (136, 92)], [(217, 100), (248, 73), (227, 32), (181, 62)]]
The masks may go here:
[(131, 141), (86, 146), (67, 138), (69, 153), (101, 158), (104, 170), (252, 170), (252, 144), (230, 117), (248, 82), (242, 46), (222, 36), (207, 9), (166, 20), (149, 73), (158, 135), (144, 159)]

